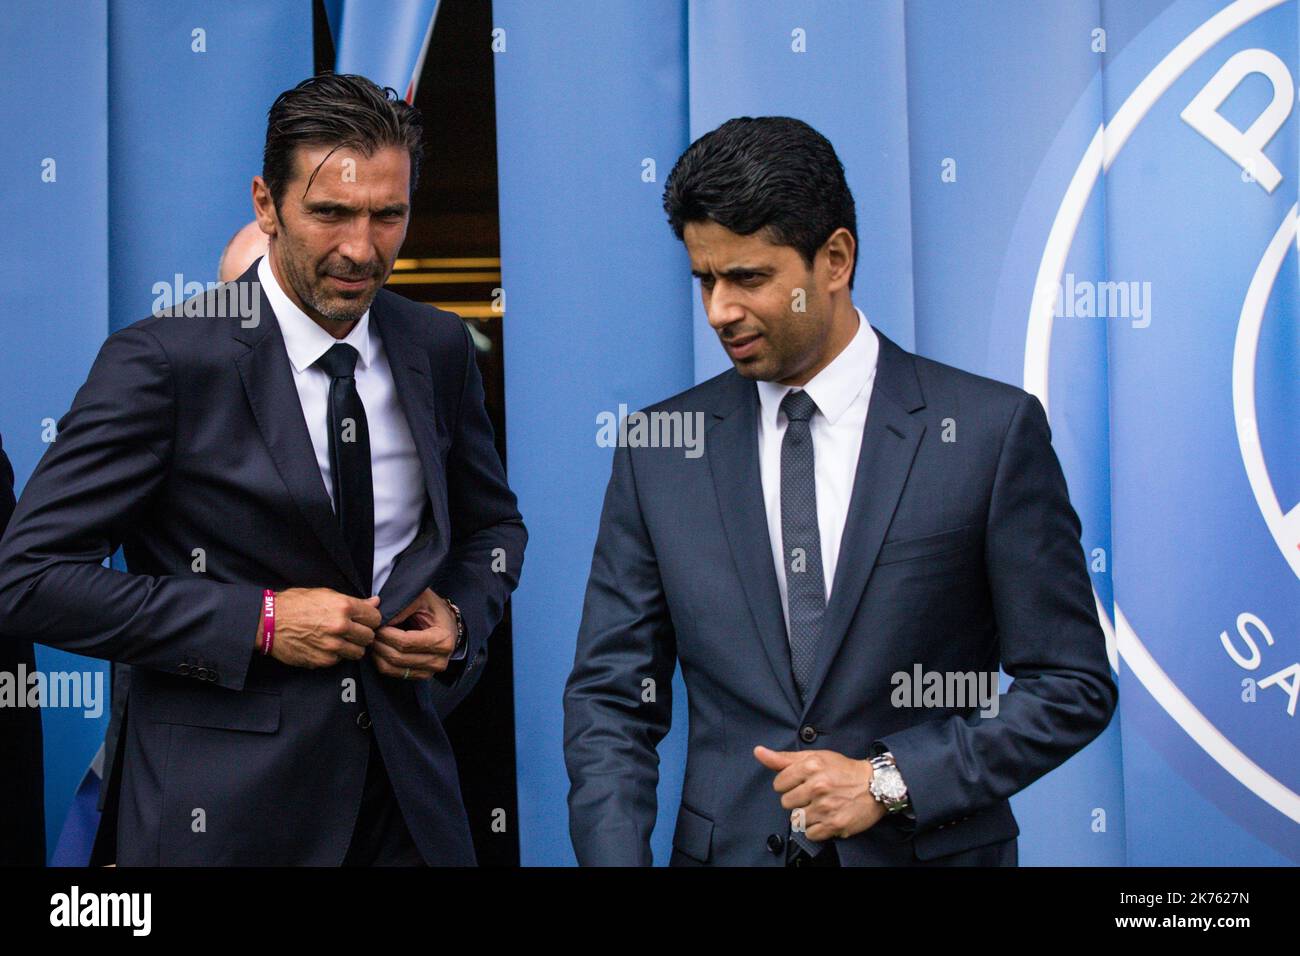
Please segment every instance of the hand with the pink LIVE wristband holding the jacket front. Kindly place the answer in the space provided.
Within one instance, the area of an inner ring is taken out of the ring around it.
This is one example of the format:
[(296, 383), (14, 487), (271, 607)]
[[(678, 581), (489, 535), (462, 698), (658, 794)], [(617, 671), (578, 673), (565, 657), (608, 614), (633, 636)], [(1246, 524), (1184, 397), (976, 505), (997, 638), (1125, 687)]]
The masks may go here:
[[(276, 592), (276, 635), (270, 656), (291, 667), (332, 667), (359, 661), (380, 626), (380, 598), (348, 597), (330, 588)], [(261, 648), (263, 624), (257, 626)]]

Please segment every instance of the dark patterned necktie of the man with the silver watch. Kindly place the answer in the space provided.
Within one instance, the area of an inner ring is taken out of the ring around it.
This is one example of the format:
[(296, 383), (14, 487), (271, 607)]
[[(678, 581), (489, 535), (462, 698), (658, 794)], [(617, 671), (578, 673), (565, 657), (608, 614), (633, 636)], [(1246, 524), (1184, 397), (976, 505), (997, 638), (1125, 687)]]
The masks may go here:
[[(781, 399), (781, 411), (786, 419), (781, 440), (781, 559), (790, 619), (790, 666), (800, 700), (806, 702), (826, 614), (822, 535), (816, 522), (816, 458), (809, 427), (816, 402), (807, 392), (790, 392)], [(793, 825), (790, 839), (810, 856), (822, 851), (822, 844), (807, 839)]]

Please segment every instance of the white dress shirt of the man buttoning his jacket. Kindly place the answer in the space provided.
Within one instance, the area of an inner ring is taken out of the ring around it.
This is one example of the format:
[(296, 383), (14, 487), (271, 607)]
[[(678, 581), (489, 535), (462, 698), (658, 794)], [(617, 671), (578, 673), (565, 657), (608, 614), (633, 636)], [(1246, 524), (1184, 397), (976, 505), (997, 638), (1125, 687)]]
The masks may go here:
[(393, 559), (420, 529), (425, 498), (420, 455), (398, 402), (384, 339), (370, 326), (369, 310), (346, 337), (334, 338), (325, 332), (280, 287), (269, 256), (263, 256), (257, 264), (257, 281), (285, 337), (294, 385), (330, 505), (334, 505), (328, 425), (330, 380), (324, 369), (315, 367), (315, 362), (339, 342), (352, 346), (360, 355), (356, 360), (356, 392), (365, 406), (370, 432), (370, 477), (374, 483), (374, 578), (370, 593), (378, 594), (393, 571)]

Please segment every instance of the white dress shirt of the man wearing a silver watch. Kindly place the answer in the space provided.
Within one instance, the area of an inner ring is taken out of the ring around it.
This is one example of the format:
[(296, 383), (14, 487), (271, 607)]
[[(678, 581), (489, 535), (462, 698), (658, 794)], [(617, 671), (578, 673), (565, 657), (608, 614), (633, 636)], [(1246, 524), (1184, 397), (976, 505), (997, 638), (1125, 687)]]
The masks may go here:
[[(862, 450), (862, 429), (867, 424), (871, 386), (876, 378), (880, 341), (867, 317), (858, 313), (858, 332), (831, 364), (818, 372), (803, 390), (816, 403), (809, 421), (816, 468), (816, 524), (822, 538), (822, 574), (829, 604), (835, 566), (840, 557), (840, 540), (849, 516), (853, 480)], [(768, 537), (776, 583), (781, 591), (785, 633), (790, 632), (790, 606), (785, 584), (784, 549), (781, 546), (781, 440), (785, 437), (785, 414), (781, 399), (797, 390), (774, 381), (758, 382), (758, 463), (763, 481), (763, 503), (767, 507)]]

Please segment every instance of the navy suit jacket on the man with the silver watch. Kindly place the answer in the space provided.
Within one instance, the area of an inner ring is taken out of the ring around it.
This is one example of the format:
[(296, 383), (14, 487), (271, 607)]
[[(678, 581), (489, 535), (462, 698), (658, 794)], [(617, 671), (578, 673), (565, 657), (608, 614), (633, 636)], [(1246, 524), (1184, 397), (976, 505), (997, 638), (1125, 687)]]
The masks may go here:
[[(690, 726), (670, 862), (784, 864), (790, 813), (753, 756), (763, 744), (894, 754), (915, 821), (890, 816), (837, 839), (845, 865), (1014, 864), (1008, 797), (1100, 734), (1117, 698), (1043, 406), (880, 336), (802, 704), (763, 506), (758, 410), (754, 382), (728, 371), (651, 410), (703, 412), (702, 457), (615, 451), (564, 693), (578, 861), (650, 862), (655, 747), (680, 661)], [(945, 674), (1001, 665), (1014, 683), (991, 718), (978, 704), (894, 706), (893, 675), (915, 665)]]

